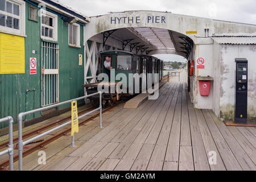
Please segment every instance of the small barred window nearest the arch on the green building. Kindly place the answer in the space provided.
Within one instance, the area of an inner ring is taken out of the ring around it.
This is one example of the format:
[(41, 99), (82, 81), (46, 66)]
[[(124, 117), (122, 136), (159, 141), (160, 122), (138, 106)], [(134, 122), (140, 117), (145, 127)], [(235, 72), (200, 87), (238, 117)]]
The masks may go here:
[(80, 26), (79, 24), (68, 24), (69, 46), (80, 47)]

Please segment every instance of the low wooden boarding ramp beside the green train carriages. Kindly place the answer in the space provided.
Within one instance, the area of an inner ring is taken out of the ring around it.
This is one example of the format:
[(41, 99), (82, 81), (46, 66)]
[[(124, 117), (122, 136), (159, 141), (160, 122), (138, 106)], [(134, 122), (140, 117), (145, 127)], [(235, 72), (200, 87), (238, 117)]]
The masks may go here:
[[(159, 88), (161, 88), (166, 81), (159, 82)], [(130, 99), (125, 103), (125, 106), (123, 106), (123, 109), (137, 109), (140, 105), (143, 104), (143, 102), (148, 100), (148, 96), (150, 93), (141, 93), (138, 96)]]

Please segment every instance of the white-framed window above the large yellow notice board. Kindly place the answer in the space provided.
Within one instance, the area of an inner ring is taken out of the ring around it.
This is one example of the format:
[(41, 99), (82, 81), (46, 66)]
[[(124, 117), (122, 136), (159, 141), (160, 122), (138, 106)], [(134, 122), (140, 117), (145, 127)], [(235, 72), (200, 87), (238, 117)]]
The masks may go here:
[(0, 0), (0, 26), (20, 30), (20, 5)]

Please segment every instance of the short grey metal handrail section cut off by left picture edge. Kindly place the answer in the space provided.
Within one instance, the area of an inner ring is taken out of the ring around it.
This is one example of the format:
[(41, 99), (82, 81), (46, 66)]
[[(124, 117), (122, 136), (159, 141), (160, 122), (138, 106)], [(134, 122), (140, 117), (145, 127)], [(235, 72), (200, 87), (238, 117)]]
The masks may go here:
[(13, 117), (9, 116), (9, 117), (0, 119), (0, 123), (6, 122), (6, 121), (9, 122), (9, 145), (6, 150), (3, 150), (0, 152), (0, 156), (9, 154), (9, 170), (13, 171), (13, 153), (14, 153), (14, 149), (13, 149)]

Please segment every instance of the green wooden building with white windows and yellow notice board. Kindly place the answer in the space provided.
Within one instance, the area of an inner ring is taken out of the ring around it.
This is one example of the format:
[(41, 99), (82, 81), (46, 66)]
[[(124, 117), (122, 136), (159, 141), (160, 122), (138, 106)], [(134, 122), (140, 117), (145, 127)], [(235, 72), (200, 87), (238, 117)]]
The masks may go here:
[(84, 96), (89, 20), (56, 1), (0, 0), (0, 118), (11, 115), (16, 123), (20, 112)]

